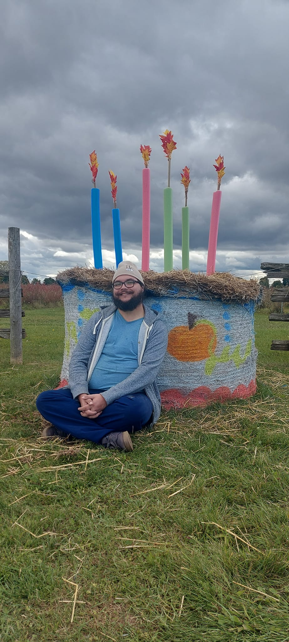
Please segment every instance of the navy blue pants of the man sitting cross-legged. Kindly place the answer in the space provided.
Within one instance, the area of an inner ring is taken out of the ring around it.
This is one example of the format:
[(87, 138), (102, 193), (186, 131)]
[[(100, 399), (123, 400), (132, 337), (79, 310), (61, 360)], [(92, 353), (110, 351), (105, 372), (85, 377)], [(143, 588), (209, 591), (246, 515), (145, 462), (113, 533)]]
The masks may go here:
[[(101, 392), (90, 390), (90, 394)], [(104, 408), (99, 417), (88, 419), (82, 417), (78, 408), (78, 399), (73, 399), (69, 388), (46, 390), (36, 400), (40, 415), (53, 426), (64, 430), (77, 439), (88, 439), (101, 444), (105, 435), (112, 431), (134, 433), (149, 422), (153, 413), (153, 404), (147, 395), (135, 392), (120, 397)]]

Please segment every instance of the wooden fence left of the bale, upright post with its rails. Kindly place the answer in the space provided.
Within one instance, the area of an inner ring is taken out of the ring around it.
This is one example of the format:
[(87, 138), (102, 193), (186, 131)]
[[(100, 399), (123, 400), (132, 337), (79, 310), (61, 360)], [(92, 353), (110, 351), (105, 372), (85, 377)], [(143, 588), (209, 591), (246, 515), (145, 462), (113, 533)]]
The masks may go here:
[[(10, 327), (0, 327), (0, 338), (10, 339), (10, 363), (22, 363), (22, 338), (26, 336), (22, 329), (22, 317), (25, 317), (21, 309), (21, 263), (20, 263), (20, 229), (19, 227), (8, 228), (8, 279), (9, 287), (0, 288), (0, 299), (9, 298), (9, 309), (0, 310), (0, 318), (10, 317)], [(1, 276), (6, 276), (6, 270), (0, 270)]]

